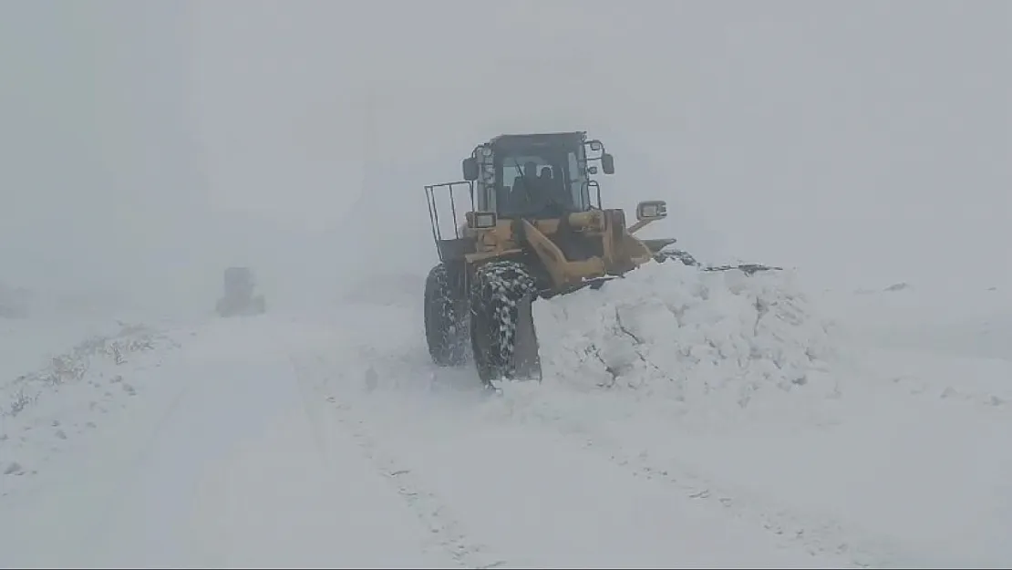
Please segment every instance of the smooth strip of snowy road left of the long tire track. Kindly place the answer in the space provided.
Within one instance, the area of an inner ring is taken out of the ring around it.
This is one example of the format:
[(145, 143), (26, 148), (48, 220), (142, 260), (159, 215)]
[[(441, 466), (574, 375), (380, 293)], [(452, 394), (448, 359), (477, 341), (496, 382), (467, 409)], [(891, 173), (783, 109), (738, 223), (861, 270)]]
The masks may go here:
[(4, 565), (445, 565), (354, 442), (307, 413), (284, 323), (215, 324), (8, 501)]

